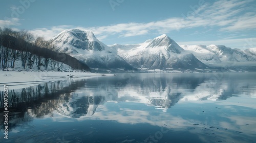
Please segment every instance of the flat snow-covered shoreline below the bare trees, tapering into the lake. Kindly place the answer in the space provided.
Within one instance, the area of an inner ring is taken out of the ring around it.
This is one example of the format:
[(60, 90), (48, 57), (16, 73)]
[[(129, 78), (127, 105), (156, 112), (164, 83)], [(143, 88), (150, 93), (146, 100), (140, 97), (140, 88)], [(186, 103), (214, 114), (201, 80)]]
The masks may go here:
[[(61, 72), (61, 71), (3, 71), (0, 70), (0, 86), (7, 85), (9, 89), (18, 89), (37, 85), (39, 83), (54, 82), (67, 79), (81, 79), (100, 77), (102, 74), (88, 72)], [(114, 76), (114, 74), (104, 74)], [(1, 89), (0, 89), (1, 90)]]

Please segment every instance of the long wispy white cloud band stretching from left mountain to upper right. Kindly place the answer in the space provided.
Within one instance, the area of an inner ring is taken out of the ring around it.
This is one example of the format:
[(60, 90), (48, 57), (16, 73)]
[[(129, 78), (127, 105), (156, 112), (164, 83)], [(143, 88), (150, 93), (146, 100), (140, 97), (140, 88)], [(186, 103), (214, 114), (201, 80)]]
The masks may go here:
[(198, 9), (188, 10), (189, 16), (182, 14), (180, 17), (171, 17), (164, 20), (151, 22), (129, 22), (118, 23), (101, 27), (75, 27), (54, 26), (51, 28), (34, 29), (31, 32), (43, 35), (46, 39), (53, 38), (62, 30), (79, 28), (93, 31), (100, 40), (110, 36), (131, 37), (146, 34), (163, 34), (170, 31), (179, 31), (187, 28), (217, 28), (219, 31), (242, 31), (256, 29), (255, 12), (246, 12), (246, 6), (251, 3), (247, 1), (217, 1), (213, 4), (205, 3)]

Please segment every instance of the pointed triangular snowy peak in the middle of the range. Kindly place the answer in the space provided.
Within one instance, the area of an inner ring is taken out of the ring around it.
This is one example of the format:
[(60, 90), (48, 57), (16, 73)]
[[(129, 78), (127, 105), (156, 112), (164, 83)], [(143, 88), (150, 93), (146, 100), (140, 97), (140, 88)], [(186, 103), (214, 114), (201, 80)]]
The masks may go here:
[(110, 45), (127, 63), (148, 69), (205, 69), (207, 66), (193, 54), (183, 50), (173, 39), (163, 34), (153, 40), (132, 45)]

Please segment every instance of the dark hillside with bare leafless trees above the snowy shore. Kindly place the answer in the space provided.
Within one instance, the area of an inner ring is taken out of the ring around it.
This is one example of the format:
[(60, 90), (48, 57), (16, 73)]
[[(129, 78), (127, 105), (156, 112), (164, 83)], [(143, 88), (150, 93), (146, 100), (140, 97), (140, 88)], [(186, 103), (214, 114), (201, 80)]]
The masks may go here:
[(20, 60), (24, 69), (38, 70), (60, 69), (63, 63), (72, 68), (90, 70), (90, 68), (77, 59), (54, 51), (55, 45), (52, 40), (45, 40), (44, 37), (34, 38), (34, 35), (26, 30), (13, 31), (10, 28), (0, 27), (0, 67), (14, 68), (15, 61)]

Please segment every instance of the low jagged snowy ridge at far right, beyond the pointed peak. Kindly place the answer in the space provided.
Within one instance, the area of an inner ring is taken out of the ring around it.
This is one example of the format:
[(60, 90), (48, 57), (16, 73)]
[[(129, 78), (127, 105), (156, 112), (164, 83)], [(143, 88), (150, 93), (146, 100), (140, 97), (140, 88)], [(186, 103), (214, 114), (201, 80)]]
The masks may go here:
[(224, 45), (181, 45), (181, 47), (193, 53), (201, 62), (209, 66), (241, 66), (239, 62), (256, 61), (256, 48), (246, 49), (231, 49)]

